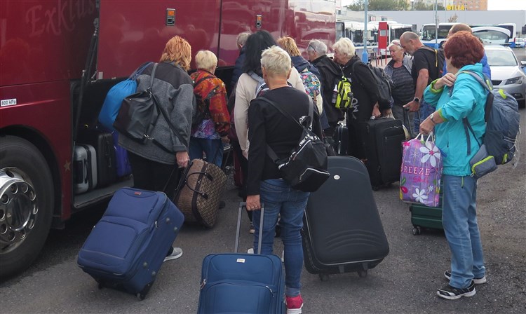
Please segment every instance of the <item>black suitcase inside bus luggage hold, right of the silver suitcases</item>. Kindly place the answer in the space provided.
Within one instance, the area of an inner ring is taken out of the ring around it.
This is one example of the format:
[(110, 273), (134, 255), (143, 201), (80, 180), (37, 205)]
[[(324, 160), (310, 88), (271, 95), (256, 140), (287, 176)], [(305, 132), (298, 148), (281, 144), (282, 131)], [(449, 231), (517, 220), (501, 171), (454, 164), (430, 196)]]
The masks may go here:
[(94, 129), (80, 130), (77, 142), (95, 147), (97, 152), (97, 185), (107, 186), (116, 182), (117, 170), (112, 133)]

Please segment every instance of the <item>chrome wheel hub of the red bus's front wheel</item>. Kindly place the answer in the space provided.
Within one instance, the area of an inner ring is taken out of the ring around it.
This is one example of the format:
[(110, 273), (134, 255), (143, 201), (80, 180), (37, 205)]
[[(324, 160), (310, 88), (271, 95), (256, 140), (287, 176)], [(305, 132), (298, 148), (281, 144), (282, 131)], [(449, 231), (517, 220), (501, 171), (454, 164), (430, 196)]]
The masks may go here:
[(35, 226), (39, 204), (33, 186), (18, 168), (0, 170), (0, 250), (20, 245)]

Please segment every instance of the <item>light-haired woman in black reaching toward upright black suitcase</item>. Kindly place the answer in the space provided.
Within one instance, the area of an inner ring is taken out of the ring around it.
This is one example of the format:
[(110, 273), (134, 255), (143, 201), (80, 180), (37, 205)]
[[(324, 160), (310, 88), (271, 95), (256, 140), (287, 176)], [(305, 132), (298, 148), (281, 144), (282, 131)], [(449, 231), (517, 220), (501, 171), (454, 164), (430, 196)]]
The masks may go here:
[(343, 74), (351, 81), (353, 97), (358, 100), (353, 109), (347, 112), (347, 128), (349, 130), (349, 154), (361, 160), (366, 159), (363, 141), (359, 137), (358, 123), (367, 121), (371, 116), (387, 116), (391, 114), (389, 104), (379, 107), (378, 86), (367, 65), (361, 62), (355, 54), (353, 42), (341, 38), (332, 48), (335, 50), (335, 62), (342, 66)]

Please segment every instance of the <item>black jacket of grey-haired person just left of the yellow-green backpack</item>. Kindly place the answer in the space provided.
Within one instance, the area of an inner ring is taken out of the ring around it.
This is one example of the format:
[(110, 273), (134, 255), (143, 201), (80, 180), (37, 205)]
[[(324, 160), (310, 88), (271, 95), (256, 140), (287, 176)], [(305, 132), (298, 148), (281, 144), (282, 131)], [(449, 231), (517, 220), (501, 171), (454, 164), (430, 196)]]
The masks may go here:
[(337, 109), (335, 105), (332, 104), (332, 90), (335, 89), (337, 79), (342, 77), (342, 69), (327, 55), (318, 57), (318, 59), (313, 60), (312, 64), (318, 68), (321, 74), (323, 111), (327, 115), (329, 123), (335, 124), (338, 121), (342, 121), (344, 119), (343, 111)]

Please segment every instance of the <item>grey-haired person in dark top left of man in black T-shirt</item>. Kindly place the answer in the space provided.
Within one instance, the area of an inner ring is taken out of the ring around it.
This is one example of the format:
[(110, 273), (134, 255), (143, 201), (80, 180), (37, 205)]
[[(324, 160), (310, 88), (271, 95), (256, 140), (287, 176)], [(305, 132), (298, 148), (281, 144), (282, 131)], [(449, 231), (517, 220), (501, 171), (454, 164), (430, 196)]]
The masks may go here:
[(391, 41), (387, 46), (391, 61), (385, 67), (385, 73), (391, 76), (393, 85), (391, 86), (391, 96), (393, 96), (393, 116), (402, 121), (406, 128), (412, 128), (414, 112), (409, 113), (409, 120), (404, 121), (403, 105), (412, 101), (414, 97), (414, 81), (411, 76), (412, 60), (408, 55), (404, 55), (404, 48), (400, 46), (400, 41)]

